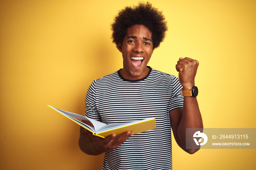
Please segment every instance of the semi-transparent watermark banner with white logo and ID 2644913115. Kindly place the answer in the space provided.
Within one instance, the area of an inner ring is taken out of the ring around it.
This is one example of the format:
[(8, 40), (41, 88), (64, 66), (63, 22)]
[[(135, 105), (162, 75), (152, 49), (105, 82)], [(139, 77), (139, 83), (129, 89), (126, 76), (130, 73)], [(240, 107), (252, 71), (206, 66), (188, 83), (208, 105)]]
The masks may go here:
[(256, 128), (186, 128), (186, 149), (256, 149), (255, 134)]

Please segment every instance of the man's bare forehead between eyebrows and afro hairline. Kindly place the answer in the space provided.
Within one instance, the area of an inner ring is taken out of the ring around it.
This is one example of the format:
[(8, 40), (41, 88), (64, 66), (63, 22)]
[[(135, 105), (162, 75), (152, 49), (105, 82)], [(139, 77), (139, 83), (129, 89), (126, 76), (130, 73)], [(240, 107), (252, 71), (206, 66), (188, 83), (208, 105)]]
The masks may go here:
[(126, 37), (136, 36), (137, 38), (149, 38), (152, 39), (152, 32), (143, 25), (134, 25), (127, 28)]

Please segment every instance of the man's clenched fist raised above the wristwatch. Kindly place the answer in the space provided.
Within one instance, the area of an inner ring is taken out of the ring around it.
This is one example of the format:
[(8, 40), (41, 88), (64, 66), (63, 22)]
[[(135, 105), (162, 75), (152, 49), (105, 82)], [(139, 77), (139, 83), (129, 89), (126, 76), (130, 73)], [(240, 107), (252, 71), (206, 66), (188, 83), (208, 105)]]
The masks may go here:
[(176, 64), (176, 70), (179, 72), (179, 81), (183, 90), (190, 90), (195, 85), (196, 71), (199, 62), (192, 58), (179, 58)]

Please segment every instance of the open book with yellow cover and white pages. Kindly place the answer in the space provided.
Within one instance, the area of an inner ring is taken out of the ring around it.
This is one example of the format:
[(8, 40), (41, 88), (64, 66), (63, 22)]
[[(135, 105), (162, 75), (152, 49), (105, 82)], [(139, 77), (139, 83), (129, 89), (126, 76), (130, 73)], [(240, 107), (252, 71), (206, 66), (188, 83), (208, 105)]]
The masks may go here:
[[(92, 132), (94, 135), (99, 136), (101, 138), (105, 138), (111, 134), (119, 135), (127, 131), (133, 131), (134, 134), (138, 134), (138, 133), (153, 130), (156, 128), (154, 118), (147, 118), (147, 119), (132, 121), (128, 123), (105, 124), (86, 116), (82, 116), (82, 115), (67, 112), (67, 111), (62, 111), (50, 105), (48, 106), (54, 109), (55, 111), (61, 113), (62, 115), (66, 116), (67, 118), (71, 119), (75, 123), (79, 124), (83, 128), (86, 128), (87, 130)], [(84, 122), (78, 119), (84, 120)]]

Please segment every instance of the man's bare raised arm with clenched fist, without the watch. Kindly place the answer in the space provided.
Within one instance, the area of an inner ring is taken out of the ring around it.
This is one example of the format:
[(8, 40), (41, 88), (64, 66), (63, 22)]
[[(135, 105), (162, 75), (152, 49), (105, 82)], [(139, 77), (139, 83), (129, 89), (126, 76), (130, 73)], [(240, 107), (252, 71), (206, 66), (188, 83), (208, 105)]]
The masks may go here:
[[(176, 65), (183, 90), (191, 90), (199, 62), (191, 58), (180, 58)], [(186, 149), (186, 128), (203, 128), (202, 116), (196, 97), (184, 97), (183, 109), (170, 111), (171, 126), (177, 144), (189, 154), (199, 149)], [(194, 141), (187, 141), (194, 142)]]

